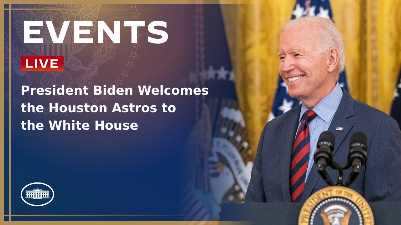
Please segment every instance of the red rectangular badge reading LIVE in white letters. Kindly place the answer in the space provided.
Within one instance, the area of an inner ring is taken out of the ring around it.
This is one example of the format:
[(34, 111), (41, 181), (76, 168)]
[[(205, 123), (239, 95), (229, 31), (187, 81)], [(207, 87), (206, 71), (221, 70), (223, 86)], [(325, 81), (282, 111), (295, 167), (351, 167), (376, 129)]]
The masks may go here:
[(21, 56), (21, 71), (63, 71), (64, 56)]

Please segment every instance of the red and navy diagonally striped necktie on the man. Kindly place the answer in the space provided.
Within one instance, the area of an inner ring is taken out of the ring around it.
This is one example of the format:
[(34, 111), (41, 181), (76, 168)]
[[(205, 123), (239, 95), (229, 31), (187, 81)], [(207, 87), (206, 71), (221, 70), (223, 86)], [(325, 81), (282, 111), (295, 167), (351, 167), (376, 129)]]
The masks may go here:
[(307, 110), (302, 116), (294, 147), (292, 148), (290, 167), (291, 201), (299, 202), (304, 191), (306, 170), (308, 169), (310, 137), (309, 123), (316, 117), (313, 110)]

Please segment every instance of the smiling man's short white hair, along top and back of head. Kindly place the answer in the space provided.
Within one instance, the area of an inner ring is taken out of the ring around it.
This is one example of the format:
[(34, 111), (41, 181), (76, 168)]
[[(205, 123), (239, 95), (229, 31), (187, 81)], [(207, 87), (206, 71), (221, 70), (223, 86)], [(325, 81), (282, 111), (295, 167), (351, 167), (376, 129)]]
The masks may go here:
[(322, 18), (319, 16), (305, 16), (296, 18), (295, 20), (290, 20), (284, 24), (282, 31), (288, 28), (303, 26), (309, 23), (318, 25), (320, 29), (317, 29), (319, 39), (322, 44), (319, 48), (319, 52), (325, 53), (330, 48), (337, 48), (339, 53), (339, 68), (340, 72), (344, 70), (345, 67), (345, 50), (344, 50), (344, 40), (342, 40), (342, 35), (334, 25), (333, 21), (329, 18)]

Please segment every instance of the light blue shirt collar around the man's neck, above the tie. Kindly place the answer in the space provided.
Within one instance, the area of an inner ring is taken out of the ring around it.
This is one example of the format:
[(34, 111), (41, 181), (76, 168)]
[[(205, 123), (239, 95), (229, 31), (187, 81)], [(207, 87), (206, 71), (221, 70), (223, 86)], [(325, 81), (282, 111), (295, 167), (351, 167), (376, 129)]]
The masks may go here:
[[(334, 89), (328, 94), (326, 97), (324, 97), (312, 110), (316, 112), (318, 117), (322, 118), (326, 123), (330, 123), (331, 119), (334, 116), (334, 113), (336, 113), (338, 105), (340, 105), (342, 98), (342, 90), (340, 87), (340, 84), (336, 84)], [(305, 106), (304, 103), (302, 103), (301, 107), (301, 114), (300, 114), (300, 119), (301, 121), (302, 116), (304, 113), (308, 110), (308, 108)]]

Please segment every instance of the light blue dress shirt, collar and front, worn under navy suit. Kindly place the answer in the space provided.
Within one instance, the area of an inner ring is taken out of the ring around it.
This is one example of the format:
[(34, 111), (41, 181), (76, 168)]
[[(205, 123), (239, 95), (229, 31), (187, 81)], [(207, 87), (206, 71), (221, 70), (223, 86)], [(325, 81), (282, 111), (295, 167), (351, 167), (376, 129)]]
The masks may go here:
[[(318, 144), (319, 136), (323, 131), (328, 130), (328, 127), (333, 120), (334, 113), (337, 111), (338, 105), (340, 105), (341, 98), (342, 90), (340, 84), (338, 84), (337, 82), (336, 86), (330, 92), (330, 94), (324, 97), (314, 108), (312, 108), (312, 110), (316, 112), (317, 116), (309, 123), (310, 151), (308, 170), (306, 170), (306, 179), (308, 179), (310, 169), (312, 169), (312, 166), (315, 163), (313, 156), (317, 149), (316, 145)], [(298, 128), (301, 125), (302, 116), (304, 115), (306, 110), (308, 110), (308, 108), (306, 108), (304, 103), (302, 103)]]

